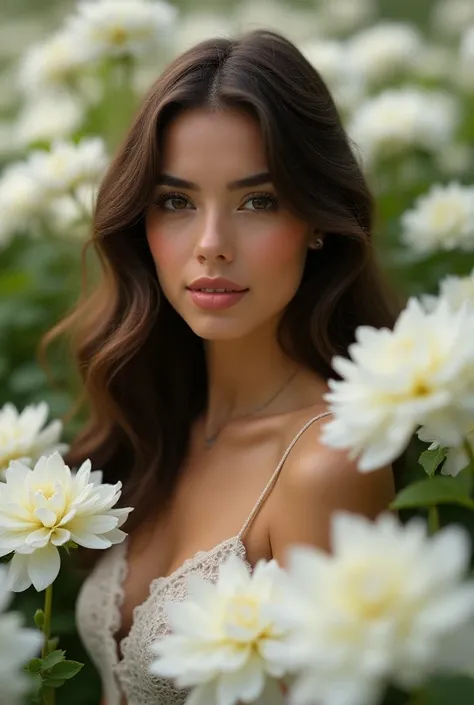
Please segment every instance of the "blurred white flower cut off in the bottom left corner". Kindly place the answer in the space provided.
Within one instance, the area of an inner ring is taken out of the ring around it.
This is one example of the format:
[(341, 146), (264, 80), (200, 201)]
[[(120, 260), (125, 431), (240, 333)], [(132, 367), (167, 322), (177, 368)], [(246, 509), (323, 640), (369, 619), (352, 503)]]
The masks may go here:
[(5, 614), (11, 602), (7, 588), (7, 569), (0, 566), (0, 705), (20, 705), (30, 683), (22, 667), (37, 655), (42, 634), (25, 629), (19, 612)]

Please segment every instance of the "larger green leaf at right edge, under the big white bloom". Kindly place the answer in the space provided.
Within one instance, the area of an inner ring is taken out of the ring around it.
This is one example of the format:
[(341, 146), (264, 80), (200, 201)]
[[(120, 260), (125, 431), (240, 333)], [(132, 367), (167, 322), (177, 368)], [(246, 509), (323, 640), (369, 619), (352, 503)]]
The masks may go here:
[(458, 504), (474, 510), (474, 502), (462, 482), (454, 477), (436, 475), (414, 482), (401, 490), (391, 503), (392, 509), (432, 507), (435, 504)]

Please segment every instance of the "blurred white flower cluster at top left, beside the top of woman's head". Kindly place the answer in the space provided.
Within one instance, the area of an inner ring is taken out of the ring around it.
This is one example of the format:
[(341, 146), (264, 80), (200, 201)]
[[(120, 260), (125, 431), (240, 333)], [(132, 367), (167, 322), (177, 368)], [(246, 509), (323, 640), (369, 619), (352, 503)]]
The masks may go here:
[(136, 58), (156, 49), (174, 25), (176, 9), (164, 0), (84, 0), (64, 28), (24, 57), (26, 95), (70, 86), (98, 61)]

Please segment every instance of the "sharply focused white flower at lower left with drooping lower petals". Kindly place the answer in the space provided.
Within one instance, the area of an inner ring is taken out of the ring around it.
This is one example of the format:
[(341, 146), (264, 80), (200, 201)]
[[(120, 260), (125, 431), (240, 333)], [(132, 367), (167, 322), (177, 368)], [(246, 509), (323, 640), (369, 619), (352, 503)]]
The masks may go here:
[(131, 509), (114, 509), (122, 483), (101, 484), (86, 460), (72, 473), (59, 453), (42, 456), (33, 469), (15, 460), (0, 484), (0, 556), (14, 552), (9, 585), (22, 592), (45, 590), (56, 579), (58, 547), (74, 541), (85, 548), (109, 548), (126, 534), (120, 527)]

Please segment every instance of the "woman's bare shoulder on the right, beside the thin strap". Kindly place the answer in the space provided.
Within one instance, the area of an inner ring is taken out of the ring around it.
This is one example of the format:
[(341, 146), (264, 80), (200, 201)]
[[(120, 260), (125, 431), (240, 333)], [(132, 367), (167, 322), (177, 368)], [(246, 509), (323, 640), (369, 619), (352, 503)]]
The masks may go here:
[(298, 439), (274, 489), (270, 541), (273, 557), (282, 564), (292, 544), (329, 550), (335, 511), (375, 518), (387, 509), (395, 493), (390, 466), (361, 473), (346, 451), (321, 442), (321, 428), (329, 419), (315, 421)]

